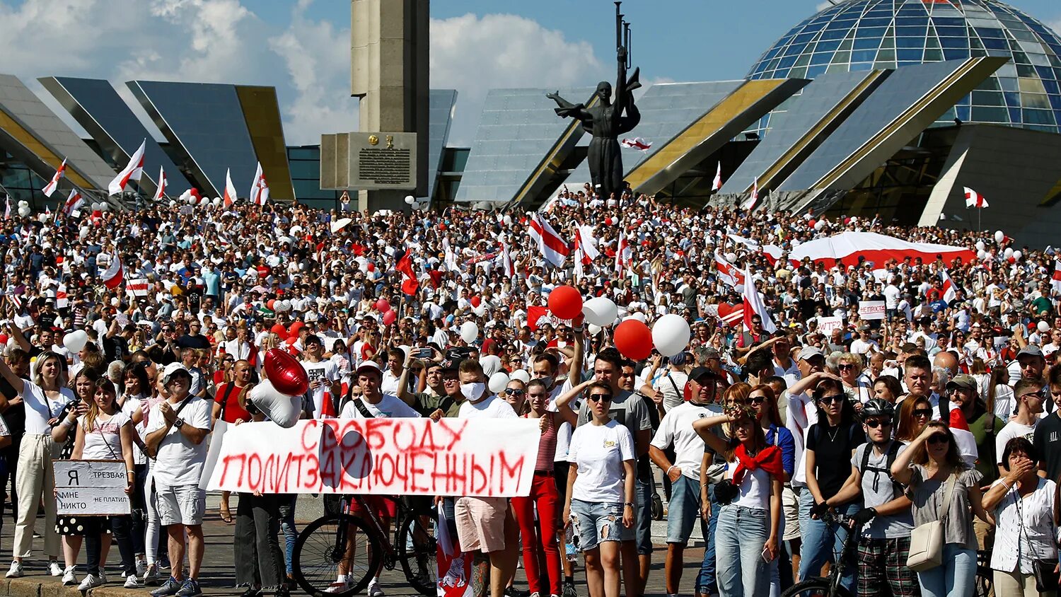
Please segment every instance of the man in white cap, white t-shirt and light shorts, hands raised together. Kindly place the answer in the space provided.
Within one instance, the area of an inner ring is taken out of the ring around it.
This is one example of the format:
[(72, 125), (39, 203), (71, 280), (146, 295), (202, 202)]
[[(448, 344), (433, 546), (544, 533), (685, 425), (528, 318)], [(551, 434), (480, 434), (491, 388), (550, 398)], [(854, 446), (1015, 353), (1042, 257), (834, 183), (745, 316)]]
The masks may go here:
[[(170, 533), (172, 576), (152, 592), (154, 597), (201, 595), (198, 573), (203, 565), (203, 512), (206, 492), (199, 489), (210, 433), (210, 402), (191, 396), (192, 375), (179, 363), (162, 371), (169, 397), (147, 417), (147, 452), (154, 462), (155, 499), (162, 526)], [(188, 578), (184, 576), (185, 534), (188, 535)]]

